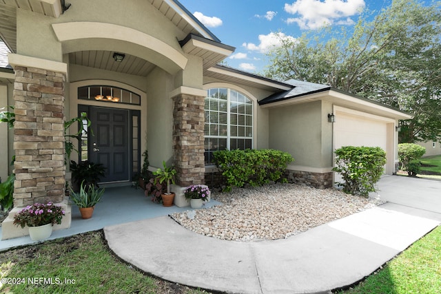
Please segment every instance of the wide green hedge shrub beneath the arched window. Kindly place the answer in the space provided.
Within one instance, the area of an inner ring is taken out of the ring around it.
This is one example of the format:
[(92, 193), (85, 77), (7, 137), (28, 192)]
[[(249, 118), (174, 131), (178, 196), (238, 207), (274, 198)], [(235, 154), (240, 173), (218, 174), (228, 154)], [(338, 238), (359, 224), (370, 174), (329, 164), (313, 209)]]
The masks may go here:
[(214, 162), (226, 180), (225, 191), (232, 187), (262, 186), (282, 178), (289, 162), (294, 161), (291, 154), (273, 149), (221, 150), (214, 152)]

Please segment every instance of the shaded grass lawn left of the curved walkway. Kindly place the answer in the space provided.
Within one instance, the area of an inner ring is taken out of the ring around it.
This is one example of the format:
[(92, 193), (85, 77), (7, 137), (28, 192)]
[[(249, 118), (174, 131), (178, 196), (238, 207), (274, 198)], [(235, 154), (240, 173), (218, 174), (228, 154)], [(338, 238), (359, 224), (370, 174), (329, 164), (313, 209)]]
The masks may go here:
[(0, 277), (14, 282), (0, 283), (0, 293), (207, 293), (121, 262), (110, 253), (102, 231), (0, 252), (0, 262)]

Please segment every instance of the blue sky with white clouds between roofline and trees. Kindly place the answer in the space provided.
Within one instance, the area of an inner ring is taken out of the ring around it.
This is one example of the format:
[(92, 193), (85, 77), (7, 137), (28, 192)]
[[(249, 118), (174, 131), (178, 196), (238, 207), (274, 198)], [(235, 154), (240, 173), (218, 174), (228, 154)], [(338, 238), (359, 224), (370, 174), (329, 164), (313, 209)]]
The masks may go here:
[(222, 43), (236, 51), (227, 65), (263, 72), (265, 52), (277, 45), (274, 33), (296, 38), (325, 23), (353, 26), (360, 10), (380, 11), (391, 0), (178, 0)]

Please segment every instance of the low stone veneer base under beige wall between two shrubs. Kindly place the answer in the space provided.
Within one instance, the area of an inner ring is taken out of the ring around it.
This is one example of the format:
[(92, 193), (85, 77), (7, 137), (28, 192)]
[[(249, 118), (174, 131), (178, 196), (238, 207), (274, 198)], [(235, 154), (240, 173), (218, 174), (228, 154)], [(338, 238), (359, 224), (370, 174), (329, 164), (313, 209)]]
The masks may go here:
[(317, 189), (326, 189), (332, 187), (332, 172), (329, 173), (313, 173), (310, 171), (291, 171), (287, 169), (285, 174), (288, 182), (307, 185)]

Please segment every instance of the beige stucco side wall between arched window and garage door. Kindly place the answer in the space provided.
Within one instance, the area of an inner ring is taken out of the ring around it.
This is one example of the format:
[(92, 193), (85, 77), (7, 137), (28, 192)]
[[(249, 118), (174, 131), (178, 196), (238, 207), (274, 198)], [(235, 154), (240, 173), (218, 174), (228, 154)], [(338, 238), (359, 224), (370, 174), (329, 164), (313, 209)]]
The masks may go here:
[(330, 168), (331, 153), (323, 150), (328, 143), (323, 141), (329, 141), (331, 124), (323, 124), (323, 112), (321, 101), (269, 109), (269, 148), (289, 152), (293, 165), (312, 168), (308, 171)]

